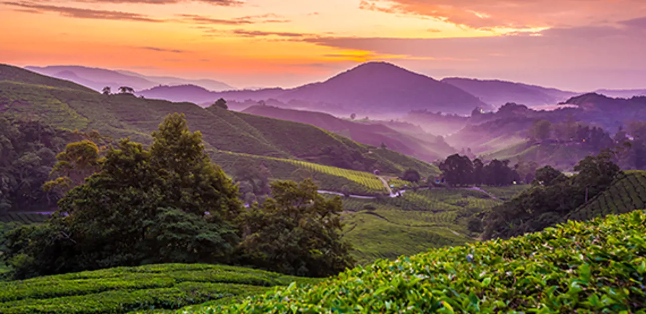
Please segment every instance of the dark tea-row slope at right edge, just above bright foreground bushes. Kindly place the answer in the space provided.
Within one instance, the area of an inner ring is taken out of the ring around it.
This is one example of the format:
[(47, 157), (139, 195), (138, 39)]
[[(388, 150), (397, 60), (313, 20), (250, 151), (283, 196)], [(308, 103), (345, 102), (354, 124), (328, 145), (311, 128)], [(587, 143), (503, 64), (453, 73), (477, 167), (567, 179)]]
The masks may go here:
[(623, 214), (646, 207), (646, 171), (632, 171), (609, 189), (568, 215), (565, 220), (585, 221), (598, 216)]

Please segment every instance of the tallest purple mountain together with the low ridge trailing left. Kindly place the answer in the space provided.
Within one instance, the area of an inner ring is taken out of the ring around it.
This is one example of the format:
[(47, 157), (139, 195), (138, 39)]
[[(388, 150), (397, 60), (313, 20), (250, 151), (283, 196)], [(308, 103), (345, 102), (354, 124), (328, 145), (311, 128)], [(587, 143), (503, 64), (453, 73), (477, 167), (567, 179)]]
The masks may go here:
[[(177, 92), (177, 96), (169, 96)], [(349, 114), (401, 114), (410, 110), (468, 114), (475, 107), (488, 105), (453, 85), (415, 74), (390, 63), (370, 62), (343, 72), (327, 81), (312, 83), (295, 89), (229, 90), (193, 95), (183, 89), (158, 87), (141, 92), (147, 98), (206, 103), (218, 98), (227, 101), (260, 101), (276, 99), (289, 107), (309, 110), (326, 108), (326, 112)]]

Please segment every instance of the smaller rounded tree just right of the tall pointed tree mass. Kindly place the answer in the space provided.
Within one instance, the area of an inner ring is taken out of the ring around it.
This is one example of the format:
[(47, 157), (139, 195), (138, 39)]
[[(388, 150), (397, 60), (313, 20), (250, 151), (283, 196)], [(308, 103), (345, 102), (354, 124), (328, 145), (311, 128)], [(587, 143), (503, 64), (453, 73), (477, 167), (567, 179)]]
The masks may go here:
[(272, 198), (242, 218), (245, 259), (271, 271), (326, 277), (351, 267), (342, 240), (339, 197), (326, 200), (311, 181), (272, 183)]

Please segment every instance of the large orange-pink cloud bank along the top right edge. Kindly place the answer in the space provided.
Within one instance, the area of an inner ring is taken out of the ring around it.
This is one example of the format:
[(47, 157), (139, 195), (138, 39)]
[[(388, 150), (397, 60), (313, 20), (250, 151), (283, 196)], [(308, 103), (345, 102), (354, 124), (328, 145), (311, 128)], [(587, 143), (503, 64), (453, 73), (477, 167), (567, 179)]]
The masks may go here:
[(362, 0), (359, 8), (484, 30), (581, 26), (646, 15), (643, 0)]

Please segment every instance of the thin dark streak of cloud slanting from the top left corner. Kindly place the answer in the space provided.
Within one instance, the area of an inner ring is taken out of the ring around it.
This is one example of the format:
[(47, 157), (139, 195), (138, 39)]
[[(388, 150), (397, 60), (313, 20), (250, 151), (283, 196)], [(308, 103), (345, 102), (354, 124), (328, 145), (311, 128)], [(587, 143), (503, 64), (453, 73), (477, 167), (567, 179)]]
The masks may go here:
[(119, 21), (142, 21), (142, 22), (163, 22), (161, 19), (153, 19), (152, 17), (143, 14), (121, 12), (121, 11), (107, 11), (107, 10), (92, 10), (85, 8), (72, 8), (69, 6), (54, 6), (54, 5), (39, 5), (36, 3), (26, 2), (3, 2), (3, 5), (16, 6), (17, 10), (28, 10), (30, 13), (45, 13), (52, 12), (58, 13), (61, 16), (76, 17), (79, 19), (111, 19)]

